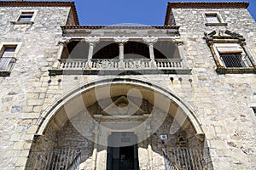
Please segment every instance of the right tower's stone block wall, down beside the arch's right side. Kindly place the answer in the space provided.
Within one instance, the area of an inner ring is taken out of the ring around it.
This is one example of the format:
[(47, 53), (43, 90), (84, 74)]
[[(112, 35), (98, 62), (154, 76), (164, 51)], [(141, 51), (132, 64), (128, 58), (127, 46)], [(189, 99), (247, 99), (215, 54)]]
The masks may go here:
[[(227, 26), (206, 26), (205, 13), (218, 13)], [(218, 75), (204, 32), (230, 30), (246, 38), (256, 56), (256, 24), (246, 8), (172, 8), (184, 55), (192, 68), (191, 87), (178, 92), (198, 114), (216, 169), (255, 168), (254, 74)], [(184, 84), (182, 85), (185, 86)]]

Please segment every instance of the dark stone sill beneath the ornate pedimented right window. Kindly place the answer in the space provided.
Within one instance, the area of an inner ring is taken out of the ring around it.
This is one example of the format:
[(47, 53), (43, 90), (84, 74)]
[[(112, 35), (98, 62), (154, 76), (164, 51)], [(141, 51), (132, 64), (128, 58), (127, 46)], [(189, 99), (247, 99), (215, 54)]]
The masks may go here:
[(256, 74), (256, 68), (218, 68), (218, 74)]

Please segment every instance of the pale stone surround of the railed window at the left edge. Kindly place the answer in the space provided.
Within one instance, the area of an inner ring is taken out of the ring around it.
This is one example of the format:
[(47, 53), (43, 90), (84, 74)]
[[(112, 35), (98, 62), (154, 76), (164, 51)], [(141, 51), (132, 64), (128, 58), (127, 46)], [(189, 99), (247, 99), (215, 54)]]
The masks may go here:
[(21, 42), (0, 42), (0, 58), (3, 57), (3, 54), (5, 52), (6, 48), (14, 48), (15, 47), (15, 52), (13, 54), (12, 58), (12, 62), (13, 64), (9, 66), (9, 68), (1, 71), (0, 70), (0, 77), (8, 77), (12, 71), (12, 69), (14, 68), (15, 65), (15, 61), (17, 60), (17, 54), (20, 51), (20, 47), (21, 47)]

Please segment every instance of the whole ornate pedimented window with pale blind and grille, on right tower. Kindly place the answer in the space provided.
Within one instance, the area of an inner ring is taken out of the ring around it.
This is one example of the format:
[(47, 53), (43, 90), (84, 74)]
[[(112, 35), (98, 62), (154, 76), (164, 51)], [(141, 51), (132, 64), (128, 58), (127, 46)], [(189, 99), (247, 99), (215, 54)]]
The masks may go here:
[(206, 34), (218, 73), (255, 73), (256, 62), (246, 46), (245, 38), (231, 31)]

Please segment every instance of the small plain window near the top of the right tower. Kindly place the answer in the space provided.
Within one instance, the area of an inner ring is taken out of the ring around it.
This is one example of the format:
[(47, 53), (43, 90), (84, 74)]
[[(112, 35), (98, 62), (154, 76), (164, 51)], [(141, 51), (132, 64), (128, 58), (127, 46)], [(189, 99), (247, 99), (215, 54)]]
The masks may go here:
[(205, 13), (206, 26), (227, 26), (219, 13)]

